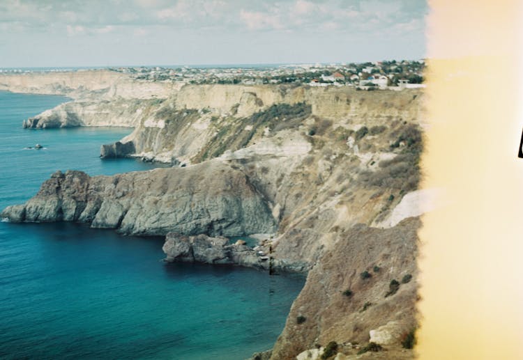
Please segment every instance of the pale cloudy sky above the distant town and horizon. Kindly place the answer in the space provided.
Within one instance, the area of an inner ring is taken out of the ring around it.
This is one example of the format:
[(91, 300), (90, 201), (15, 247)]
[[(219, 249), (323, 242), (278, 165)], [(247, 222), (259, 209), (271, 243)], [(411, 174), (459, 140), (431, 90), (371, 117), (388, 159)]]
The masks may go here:
[(0, 68), (425, 57), (424, 0), (0, 0)]

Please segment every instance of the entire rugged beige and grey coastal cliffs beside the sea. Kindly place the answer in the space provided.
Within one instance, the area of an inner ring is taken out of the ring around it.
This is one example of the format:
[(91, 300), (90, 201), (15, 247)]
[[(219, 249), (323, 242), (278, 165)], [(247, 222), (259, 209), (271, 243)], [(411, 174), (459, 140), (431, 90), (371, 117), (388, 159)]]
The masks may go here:
[[(134, 127), (100, 155), (172, 167), (57, 172), (1, 217), (166, 236), (167, 261), (308, 272), (271, 359), (332, 341), (347, 357), (370, 341), (391, 359), (414, 356), (401, 343), (416, 327), (422, 92), (17, 76), (0, 85), (75, 99), (26, 127)], [(228, 241), (252, 234), (255, 249)]]

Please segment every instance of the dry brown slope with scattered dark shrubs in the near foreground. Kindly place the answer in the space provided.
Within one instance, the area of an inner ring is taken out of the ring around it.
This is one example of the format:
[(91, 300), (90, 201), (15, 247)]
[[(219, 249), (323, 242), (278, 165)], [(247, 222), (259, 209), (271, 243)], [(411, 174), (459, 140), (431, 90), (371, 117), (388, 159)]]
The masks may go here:
[[(416, 279), (419, 226), (420, 221), (411, 218), (390, 229), (356, 226), (342, 233), (334, 248), (309, 272), (272, 359), (294, 359), (303, 350), (330, 341), (363, 345), (369, 341), (371, 329), (389, 321), (396, 321), (400, 332), (412, 329), (416, 281), (402, 283), (394, 295), (385, 295), (393, 279), (401, 282), (407, 274)], [(365, 270), (370, 279), (362, 279)], [(353, 295), (344, 295), (345, 290)], [(365, 303), (370, 305), (365, 308)], [(298, 324), (298, 316), (305, 317), (305, 322)], [(410, 357), (411, 352), (404, 353), (405, 359)]]

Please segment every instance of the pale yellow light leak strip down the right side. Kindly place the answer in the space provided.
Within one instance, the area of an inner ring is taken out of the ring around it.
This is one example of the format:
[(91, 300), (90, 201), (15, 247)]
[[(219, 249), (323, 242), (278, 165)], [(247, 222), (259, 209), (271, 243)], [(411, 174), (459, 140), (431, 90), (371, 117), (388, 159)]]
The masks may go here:
[(419, 359), (523, 359), (520, 1), (430, 1)]

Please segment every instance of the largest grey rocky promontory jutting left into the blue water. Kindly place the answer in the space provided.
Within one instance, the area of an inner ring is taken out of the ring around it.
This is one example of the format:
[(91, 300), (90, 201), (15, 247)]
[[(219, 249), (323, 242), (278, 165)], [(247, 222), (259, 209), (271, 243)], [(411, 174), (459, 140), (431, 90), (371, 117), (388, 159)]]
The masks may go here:
[(220, 162), (90, 177), (56, 172), (10, 221), (80, 221), (135, 235), (273, 233), (277, 222), (248, 178)]

